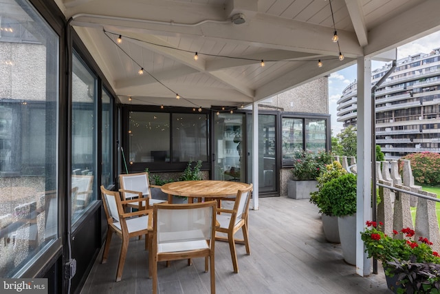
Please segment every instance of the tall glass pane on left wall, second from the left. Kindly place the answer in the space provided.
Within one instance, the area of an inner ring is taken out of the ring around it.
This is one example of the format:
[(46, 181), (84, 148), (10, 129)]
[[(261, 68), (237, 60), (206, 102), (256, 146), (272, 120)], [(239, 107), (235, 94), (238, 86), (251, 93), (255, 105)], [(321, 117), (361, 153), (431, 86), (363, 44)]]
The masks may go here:
[(72, 59), (72, 224), (96, 200), (96, 76)]

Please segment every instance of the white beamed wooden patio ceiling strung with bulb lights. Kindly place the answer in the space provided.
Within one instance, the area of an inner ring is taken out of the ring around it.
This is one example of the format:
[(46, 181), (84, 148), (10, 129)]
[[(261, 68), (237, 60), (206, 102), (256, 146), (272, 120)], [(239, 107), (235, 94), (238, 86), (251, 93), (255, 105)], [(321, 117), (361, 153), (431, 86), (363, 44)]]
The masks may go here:
[(340, 61), (329, 0), (57, 3), (120, 101), (146, 105), (246, 105), (440, 30), (438, 0), (333, 0)]

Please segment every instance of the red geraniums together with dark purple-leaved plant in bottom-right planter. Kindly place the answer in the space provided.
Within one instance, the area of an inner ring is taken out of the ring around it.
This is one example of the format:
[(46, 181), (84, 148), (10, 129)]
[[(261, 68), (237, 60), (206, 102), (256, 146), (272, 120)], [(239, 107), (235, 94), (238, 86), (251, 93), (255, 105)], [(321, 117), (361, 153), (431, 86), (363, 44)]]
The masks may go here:
[(440, 255), (432, 251), (432, 242), (423, 237), (416, 242), (415, 231), (410, 228), (385, 235), (381, 226), (382, 222), (367, 221), (361, 238), (369, 258), (382, 262), (388, 288), (395, 293), (404, 293), (404, 288), (407, 293), (439, 293)]

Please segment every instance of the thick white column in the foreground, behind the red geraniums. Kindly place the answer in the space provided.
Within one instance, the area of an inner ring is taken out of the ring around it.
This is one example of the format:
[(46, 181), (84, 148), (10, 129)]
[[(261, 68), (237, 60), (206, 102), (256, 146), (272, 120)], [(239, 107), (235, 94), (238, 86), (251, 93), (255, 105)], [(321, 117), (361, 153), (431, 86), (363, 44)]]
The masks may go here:
[(358, 182), (356, 214), (356, 273), (371, 274), (360, 231), (371, 220), (371, 59), (358, 58)]

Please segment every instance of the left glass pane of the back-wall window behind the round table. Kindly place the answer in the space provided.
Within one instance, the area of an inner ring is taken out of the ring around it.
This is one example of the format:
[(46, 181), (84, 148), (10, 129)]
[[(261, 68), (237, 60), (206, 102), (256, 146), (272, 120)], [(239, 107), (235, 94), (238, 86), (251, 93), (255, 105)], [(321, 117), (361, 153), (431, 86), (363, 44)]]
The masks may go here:
[(170, 114), (131, 112), (129, 119), (129, 161), (169, 162)]

